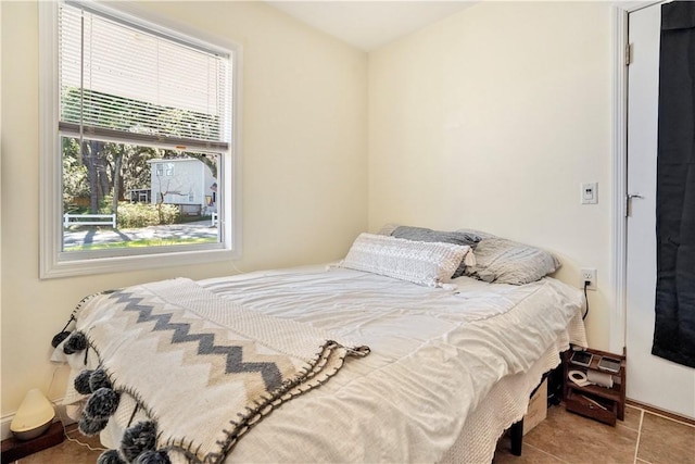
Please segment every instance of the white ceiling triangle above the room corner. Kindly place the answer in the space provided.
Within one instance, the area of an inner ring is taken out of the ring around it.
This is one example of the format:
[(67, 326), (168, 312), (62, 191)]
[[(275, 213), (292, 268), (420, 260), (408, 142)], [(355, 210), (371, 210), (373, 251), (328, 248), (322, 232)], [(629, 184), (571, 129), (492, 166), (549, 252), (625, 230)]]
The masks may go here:
[(476, 3), (448, 1), (267, 1), (361, 50), (371, 51)]

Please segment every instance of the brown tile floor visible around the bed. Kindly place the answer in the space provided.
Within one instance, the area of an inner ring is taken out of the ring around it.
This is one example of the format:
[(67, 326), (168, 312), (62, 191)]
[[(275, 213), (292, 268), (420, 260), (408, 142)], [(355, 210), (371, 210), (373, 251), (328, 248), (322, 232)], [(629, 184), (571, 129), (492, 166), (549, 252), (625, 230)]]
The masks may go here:
[[(99, 447), (97, 439), (86, 439), (74, 426), (67, 432), (83, 443)], [(90, 451), (65, 440), (16, 464), (93, 464), (100, 454), (100, 450)], [(628, 406), (626, 421), (611, 427), (568, 413), (561, 405), (553, 406), (547, 418), (523, 437), (521, 456), (509, 452), (509, 438), (505, 436), (493, 460), (493, 464), (530, 463), (695, 464), (695, 426)]]

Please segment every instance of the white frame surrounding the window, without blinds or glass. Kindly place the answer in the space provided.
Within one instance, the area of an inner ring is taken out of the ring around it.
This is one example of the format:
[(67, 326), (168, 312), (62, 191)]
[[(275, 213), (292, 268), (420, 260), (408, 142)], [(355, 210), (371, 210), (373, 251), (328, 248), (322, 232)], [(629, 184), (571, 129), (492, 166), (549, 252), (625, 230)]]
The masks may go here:
[[(39, 2), (39, 278), (127, 272), (144, 268), (211, 263), (241, 258), (241, 79), (242, 48), (217, 36), (146, 12), (129, 2), (117, 8), (89, 2), (89, 9), (122, 17), (153, 32), (178, 36), (227, 51), (231, 73), (231, 142), (222, 153), (225, 189), (219, 247), (173, 246), (144, 249), (142, 253), (93, 258), (89, 253), (64, 252), (62, 222), (62, 153), (58, 128), (60, 112), (58, 11), (59, 1)], [(73, 2), (78, 3), (78, 2)], [(197, 249), (198, 248), (198, 249)]]

